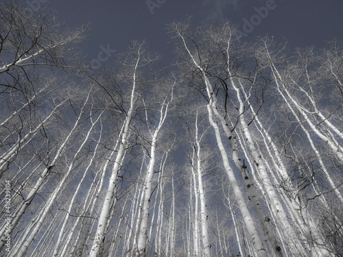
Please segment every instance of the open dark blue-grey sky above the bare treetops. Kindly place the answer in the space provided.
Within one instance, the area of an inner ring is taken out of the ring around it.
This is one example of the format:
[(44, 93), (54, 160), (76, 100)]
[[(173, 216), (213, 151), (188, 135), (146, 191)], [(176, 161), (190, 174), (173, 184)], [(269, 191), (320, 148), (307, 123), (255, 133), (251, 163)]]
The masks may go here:
[(165, 26), (187, 15), (193, 16), (194, 25), (237, 23), (246, 40), (268, 34), (286, 39), (291, 47), (322, 47), (324, 40), (334, 38), (343, 41), (342, 0), (60, 0), (41, 5), (56, 10), (67, 27), (91, 23), (82, 43), (82, 53), (89, 60), (97, 58), (101, 46), (120, 52), (128, 41), (143, 39), (168, 60), (174, 45)]

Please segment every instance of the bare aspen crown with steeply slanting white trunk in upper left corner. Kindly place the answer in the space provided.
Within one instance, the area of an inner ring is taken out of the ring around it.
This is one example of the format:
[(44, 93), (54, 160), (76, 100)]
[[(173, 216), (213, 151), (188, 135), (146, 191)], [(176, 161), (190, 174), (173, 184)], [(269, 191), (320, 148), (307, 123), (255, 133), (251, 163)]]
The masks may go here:
[(0, 74), (14, 69), (37, 65), (68, 66), (66, 56), (71, 56), (71, 46), (84, 38), (86, 27), (57, 34), (58, 25), (52, 14), (40, 10), (38, 15), (28, 17), (25, 8), (16, 2), (5, 1), (0, 5), (0, 28), (5, 32), (0, 48), (10, 53), (10, 61), (0, 60)]

